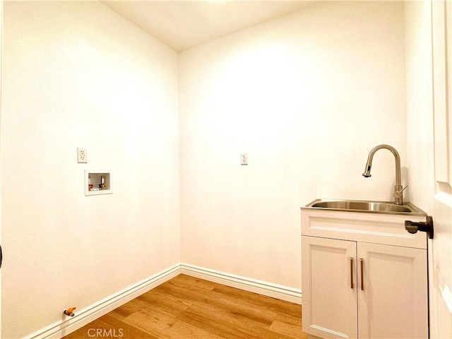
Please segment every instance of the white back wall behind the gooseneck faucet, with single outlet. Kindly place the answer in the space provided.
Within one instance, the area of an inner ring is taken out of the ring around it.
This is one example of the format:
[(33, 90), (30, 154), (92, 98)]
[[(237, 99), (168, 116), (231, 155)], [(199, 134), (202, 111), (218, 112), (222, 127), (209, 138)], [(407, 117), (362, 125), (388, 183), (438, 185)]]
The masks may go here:
[(182, 52), (182, 262), (301, 288), (300, 206), (393, 199), (389, 151), (361, 174), (381, 143), (406, 166), (404, 60), (399, 1), (321, 2)]

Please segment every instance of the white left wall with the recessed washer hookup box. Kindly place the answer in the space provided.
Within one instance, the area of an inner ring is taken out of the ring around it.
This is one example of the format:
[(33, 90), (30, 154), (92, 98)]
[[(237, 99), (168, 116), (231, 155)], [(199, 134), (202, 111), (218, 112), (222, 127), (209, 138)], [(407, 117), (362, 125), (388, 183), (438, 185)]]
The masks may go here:
[[(2, 338), (19, 338), (180, 262), (177, 53), (97, 1), (4, 7)], [(114, 194), (84, 196), (96, 167)]]

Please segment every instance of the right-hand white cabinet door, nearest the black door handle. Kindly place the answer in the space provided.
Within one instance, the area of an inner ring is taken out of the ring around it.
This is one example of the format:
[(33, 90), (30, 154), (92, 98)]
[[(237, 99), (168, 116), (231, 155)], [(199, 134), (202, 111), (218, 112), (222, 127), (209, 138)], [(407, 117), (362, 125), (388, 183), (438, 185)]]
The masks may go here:
[(359, 242), (358, 258), (359, 339), (428, 338), (427, 251)]

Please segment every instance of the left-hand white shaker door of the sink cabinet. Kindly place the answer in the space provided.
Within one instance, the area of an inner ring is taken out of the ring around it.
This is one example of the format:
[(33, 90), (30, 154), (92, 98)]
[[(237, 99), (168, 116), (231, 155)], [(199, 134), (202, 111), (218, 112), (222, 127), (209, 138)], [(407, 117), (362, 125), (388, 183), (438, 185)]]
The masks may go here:
[(356, 242), (302, 236), (303, 331), (357, 338)]

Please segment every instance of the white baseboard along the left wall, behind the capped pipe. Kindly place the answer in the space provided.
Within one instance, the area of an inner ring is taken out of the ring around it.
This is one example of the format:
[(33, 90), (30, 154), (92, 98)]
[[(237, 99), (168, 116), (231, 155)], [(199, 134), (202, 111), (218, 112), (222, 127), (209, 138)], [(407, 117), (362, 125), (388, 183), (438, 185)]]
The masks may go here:
[[(80, 311), (76, 311), (76, 315), (72, 318), (69, 316), (64, 316), (64, 319), (61, 321), (57, 321), (53, 323), (51, 326), (47, 328), (43, 328), (40, 331), (33, 333), (32, 335), (27, 336), (28, 339), (51, 339), (51, 338), (63, 338), (65, 335), (69, 335), (73, 331), (78, 330), (91, 321), (99, 318), (107, 314), (109, 311), (116, 309), (117, 307), (125, 304), (126, 302), (131, 301), (145, 292), (152, 290), (154, 287), (165, 283), (165, 281), (174, 278), (179, 275), (180, 265), (174, 265), (172, 267), (167, 268), (166, 270), (162, 270), (161, 272), (142, 280), (135, 285), (131, 285), (124, 290), (121, 290), (114, 295), (111, 295), (105, 299), (100, 300), (100, 302), (96, 302), (95, 304), (86, 307), (85, 309), (81, 309)], [(61, 310), (61, 314), (64, 310)]]

